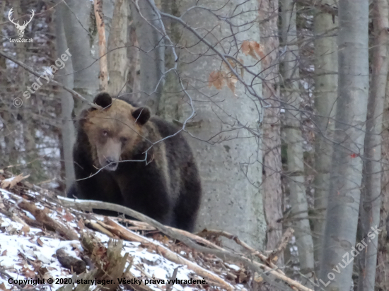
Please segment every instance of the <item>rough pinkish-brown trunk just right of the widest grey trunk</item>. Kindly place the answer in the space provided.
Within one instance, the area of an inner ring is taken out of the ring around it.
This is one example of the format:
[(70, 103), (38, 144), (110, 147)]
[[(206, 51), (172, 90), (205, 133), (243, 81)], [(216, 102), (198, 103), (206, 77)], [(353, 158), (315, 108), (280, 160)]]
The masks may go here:
[[(271, 105), (264, 109), (263, 117), (263, 206), (267, 224), (268, 250), (276, 249), (282, 237), (282, 189), (281, 189), (281, 120), (279, 115), (279, 35), (278, 0), (260, 1), (261, 44), (265, 48), (262, 60), (264, 84), (263, 98)], [(278, 266), (284, 264), (279, 255)]]

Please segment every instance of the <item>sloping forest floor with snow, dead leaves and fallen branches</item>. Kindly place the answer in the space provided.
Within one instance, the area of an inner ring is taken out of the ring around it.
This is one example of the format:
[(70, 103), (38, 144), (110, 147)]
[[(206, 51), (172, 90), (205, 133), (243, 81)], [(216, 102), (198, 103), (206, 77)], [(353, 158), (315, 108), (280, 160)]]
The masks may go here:
[[(191, 249), (146, 222), (65, 207), (66, 198), (25, 178), (0, 170), (0, 290), (211, 291), (262, 284), (243, 263)], [(188, 235), (222, 249), (217, 238)]]

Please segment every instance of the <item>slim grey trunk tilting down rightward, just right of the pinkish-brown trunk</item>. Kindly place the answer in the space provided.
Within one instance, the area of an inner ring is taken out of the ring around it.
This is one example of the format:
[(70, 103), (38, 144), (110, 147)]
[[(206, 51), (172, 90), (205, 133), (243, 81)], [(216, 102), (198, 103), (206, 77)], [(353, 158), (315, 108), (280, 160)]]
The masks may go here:
[[(285, 119), (285, 143), (288, 157), (289, 201), (291, 203), (292, 225), (296, 231), (296, 244), (298, 247), (298, 259), (300, 261), (301, 273), (313, 280), (313, 240), (310, 234), (308, 220), (308, 203), (306, 198), (306, 186), (304, 177), (304, 155), (303, 136), (301, 133), (300, 103), (301, 97), (298, 93), (298, 46), (296, 31), (296, 7), (294, 1), (283, 0), (281, 13), (282, 40), (286, 45), (286, 52), (283, 60), (284, 77), (284, 106)], [(304, 282), (307, 287), (312, 287), (309, 280)]]

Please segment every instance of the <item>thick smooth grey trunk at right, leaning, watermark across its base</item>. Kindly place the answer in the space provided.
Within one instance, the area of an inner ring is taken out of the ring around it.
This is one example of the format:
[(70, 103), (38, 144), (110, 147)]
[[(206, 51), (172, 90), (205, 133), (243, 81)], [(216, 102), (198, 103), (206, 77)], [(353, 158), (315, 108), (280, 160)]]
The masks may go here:
[[(368, 1), (339, 4), (339, 79), (334, 153), (330, 175), (320, 287), (349, 290), (352, 247), (361, 195), (362, 160), (368, 100)], [(346, 258), (346, 259), (345, 259)], [(344, 263), (344, 260), (346, 263)], [(337, 271), (334, 270), (338, 270)], [(327, 284), (327, 285), (326, 285)]]

